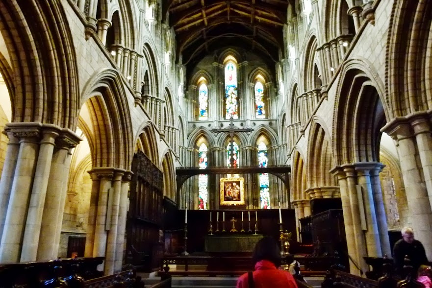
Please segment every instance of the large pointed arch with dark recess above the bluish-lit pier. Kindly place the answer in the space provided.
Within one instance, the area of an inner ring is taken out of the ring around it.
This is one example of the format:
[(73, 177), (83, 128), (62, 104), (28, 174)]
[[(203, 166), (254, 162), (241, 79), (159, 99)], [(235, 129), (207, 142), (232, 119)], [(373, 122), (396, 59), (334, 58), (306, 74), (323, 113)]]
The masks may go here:
[(381, 101), (381, 81), (369, 69), (357, 60), (343, 65), (333, 116), (336, 165), (379, 160), (387, 109)]

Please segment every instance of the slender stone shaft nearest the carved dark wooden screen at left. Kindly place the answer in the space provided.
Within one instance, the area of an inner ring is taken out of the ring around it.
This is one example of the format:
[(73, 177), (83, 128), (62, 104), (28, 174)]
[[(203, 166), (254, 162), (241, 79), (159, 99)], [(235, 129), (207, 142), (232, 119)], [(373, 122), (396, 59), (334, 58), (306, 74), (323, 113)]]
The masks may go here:
[(117, 242), (116, 255), (114, 264), (114, 273), (120, 272), (123, 265), (123, 252), (125, 248), (125, 232), (126, 232), (126, 216), (127, 216), (127, 193), (129, 191), (129, 183), (132, 179), (132, 172), (127, 171), (122, 179), (122, 191), (120, 194), (119, 206), (119, 223), (117, 226)]

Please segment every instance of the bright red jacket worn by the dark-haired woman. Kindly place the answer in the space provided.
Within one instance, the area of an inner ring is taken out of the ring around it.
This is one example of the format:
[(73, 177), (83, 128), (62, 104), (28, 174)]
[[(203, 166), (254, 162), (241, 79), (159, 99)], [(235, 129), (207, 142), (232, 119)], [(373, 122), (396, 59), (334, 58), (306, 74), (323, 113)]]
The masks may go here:
[[(255, 288), (297, 288), (289, 272), (277, 269), (275, 264), (267, 260), (255, 264), (253, 275)], [(249, 288), (248, 273), (238, 278), (236, 288)]]

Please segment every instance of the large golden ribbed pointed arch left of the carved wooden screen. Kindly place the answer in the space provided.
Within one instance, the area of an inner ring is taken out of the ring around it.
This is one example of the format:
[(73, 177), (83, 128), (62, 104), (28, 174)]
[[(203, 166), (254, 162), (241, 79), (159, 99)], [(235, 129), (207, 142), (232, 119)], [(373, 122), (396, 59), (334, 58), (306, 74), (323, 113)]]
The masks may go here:
[(87, 132), (86, 137), (94, 152), (93, 167), (129, 169), (133, 152), (132, 124), (119, 72), (113, 69), (96, 72), (84, 86), (81, 103), (86, 105), (81, 112), (88, 111), (91, 123), (87, 125), (92, 132), (90, 135)]

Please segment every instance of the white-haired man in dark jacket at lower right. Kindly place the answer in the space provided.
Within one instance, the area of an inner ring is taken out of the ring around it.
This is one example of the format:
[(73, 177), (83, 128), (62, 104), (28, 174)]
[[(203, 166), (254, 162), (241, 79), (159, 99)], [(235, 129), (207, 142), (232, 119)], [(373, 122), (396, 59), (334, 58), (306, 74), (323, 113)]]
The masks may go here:
[(411, 261), (410, 265), (414, 271), (417, 271), (421, 264), (428, 264), (423, 244), (414, 239), (414, 231), (409, 227), (402, 229), (402, 239), (398, 240), (393, 247), (393, 260), (399, 274), (402, 274), (405, 258)]

